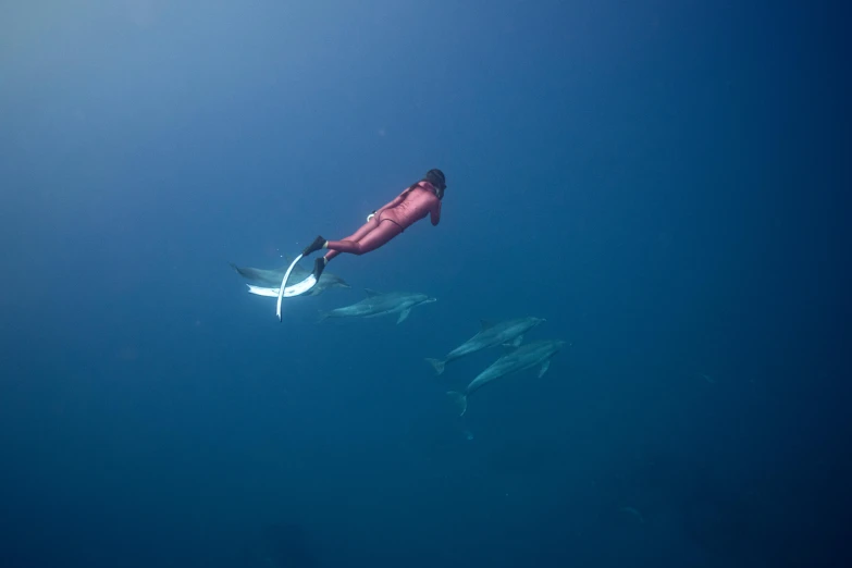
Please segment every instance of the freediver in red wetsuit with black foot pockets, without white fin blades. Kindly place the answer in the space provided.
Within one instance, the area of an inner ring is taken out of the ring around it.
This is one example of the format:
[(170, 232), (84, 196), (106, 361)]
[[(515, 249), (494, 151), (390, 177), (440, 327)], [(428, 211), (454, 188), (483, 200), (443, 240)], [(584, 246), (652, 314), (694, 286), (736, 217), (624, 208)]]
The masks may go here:
[(431, 215), (432, 225), (437, 225), (446, 187), (444, 172), (429, 170), (422, 180), (408, 186), (393, 201), (367, 215), (367, 223), (353, 235), (342, 240), (325, 240), (318, 236), (305, 247), (301, 256), (329, 250), (313, 263), (313, 276), (319, 281), (325, 266), (341, 252), (360, 256), (375, 250), (427, 215)]

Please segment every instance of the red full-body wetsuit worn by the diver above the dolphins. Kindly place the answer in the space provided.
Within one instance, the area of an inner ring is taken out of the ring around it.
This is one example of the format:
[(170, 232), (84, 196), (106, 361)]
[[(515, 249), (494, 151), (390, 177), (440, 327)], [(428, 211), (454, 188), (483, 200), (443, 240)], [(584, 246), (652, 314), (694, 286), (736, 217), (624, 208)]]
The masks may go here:
[(441, 221), (441, 199), (437, 198), (432, 184), (418, 182), (379, 209), (375, 215), (351, 236), (343, 240), (329, 240), (325, 260), (331, 260), (341, 252), (363, 255), (375, 250), (425, 215), (431, 215), (432, 224), (437, 225)]

